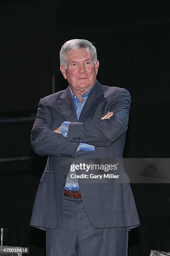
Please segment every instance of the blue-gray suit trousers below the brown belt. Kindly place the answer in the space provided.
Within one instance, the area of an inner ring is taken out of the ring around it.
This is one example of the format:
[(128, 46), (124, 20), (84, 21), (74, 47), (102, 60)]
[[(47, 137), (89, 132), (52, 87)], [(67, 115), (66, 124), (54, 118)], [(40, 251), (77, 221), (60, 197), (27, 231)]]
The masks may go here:
[(128, 255), (127, 227), (95, 228), (87, 218), (82, 199), (64, 195), (63, 200), (63, 225), (46, 228), (46, 256)]

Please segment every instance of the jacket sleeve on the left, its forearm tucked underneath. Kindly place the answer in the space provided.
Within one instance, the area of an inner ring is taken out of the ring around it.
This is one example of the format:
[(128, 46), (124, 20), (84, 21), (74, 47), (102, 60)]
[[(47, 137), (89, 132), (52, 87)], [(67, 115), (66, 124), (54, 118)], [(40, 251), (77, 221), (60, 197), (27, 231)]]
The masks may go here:
[(78, 144), (70, 143), (67, 137), (51, 131), (51, 114), (40, 99), (37, 117), (31, 131), (33, 151), (40, 156), (74, 157)]

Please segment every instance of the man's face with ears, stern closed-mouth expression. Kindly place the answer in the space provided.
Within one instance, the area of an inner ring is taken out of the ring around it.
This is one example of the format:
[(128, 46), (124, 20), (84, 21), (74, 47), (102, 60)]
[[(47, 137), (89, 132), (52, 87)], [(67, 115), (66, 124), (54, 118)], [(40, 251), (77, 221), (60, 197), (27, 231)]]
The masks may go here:
[[(99, 61), (94, 64), (86, 49), (75, 49), (66, 54), (67, 69), (60, 66), (62, 75), (77, 92), (85, 92), (95, 83)], [(86, 90), (87, 89), (87, 90)]]

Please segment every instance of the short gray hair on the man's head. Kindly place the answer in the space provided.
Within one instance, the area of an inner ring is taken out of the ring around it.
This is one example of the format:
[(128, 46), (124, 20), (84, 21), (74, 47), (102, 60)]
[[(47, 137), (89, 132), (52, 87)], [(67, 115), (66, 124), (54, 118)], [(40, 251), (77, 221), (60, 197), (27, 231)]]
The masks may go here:
[(97, 53), (96, 53), (96, 48), (90, 41), (87, 41), (85, 39), (72, 39), (61, 47), (60, 50), (60, 65), (64, 68), (67, 69), (67, 59), (66, 59), (66, 54), (68, 51), (75, 50), (75, 49), (87, 49), (87, 51), (90, 51), (92, 54), (92, 59), (94, 64), (96, 64), (97, 61)]

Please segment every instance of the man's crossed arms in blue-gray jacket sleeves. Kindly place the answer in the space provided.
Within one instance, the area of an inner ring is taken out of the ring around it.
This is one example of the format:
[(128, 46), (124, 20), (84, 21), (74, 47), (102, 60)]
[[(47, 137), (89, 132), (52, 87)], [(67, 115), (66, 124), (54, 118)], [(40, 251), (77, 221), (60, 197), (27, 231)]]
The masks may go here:
[(42, 156), (60, 156), (61, 152), (74, 156), (80, 143), (80, 141), (74, 141), (74, 137), (83, 137), (82, 143), (93, 146), (110, 146), (128, 128), (130, 102), (128, 90), (120, 90), (110, 102), (108, 110), (113, 114), (104, 115), (103, 113), (104, 116), (100, 116), (97, 120), (84, 123), (72, 122), (69, 125), (68, 136), (64, 137), (56, 132), (56, 129), (51, 130), (51, 114), (41, 99), (31, 131), (32, 149)]

